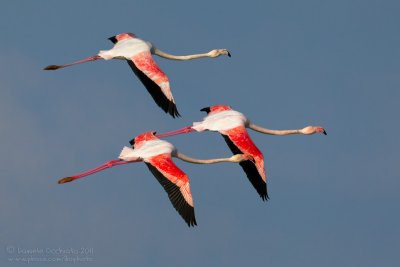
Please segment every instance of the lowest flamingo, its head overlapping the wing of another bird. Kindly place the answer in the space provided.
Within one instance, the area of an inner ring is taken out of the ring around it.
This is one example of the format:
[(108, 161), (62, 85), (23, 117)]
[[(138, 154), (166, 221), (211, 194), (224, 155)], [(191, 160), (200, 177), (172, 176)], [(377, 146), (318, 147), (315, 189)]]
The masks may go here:
[(119, 159), (108, 161), (97, 168), (81, 174), (63, 178), (58, 183), (71, 182), (113, 166), (143, 161), (167, 192), (174, 208), (190, 227), (197, 225), (197, 223), (194, 215), (194, 204), (190, 191), (189, 178), (175, 165), (172, 157), (196, 164), (241, 162), (251, 159), (251, 156), (244, 154), (237, 154), (230, 158), (204, 160), (191, 158), (178, 152), (172, 144), (158, 139), (155, 132), (146, 132), (138, 135), (130, 141), (130, 144), (133, 148), (124, 147), (119, 155)]

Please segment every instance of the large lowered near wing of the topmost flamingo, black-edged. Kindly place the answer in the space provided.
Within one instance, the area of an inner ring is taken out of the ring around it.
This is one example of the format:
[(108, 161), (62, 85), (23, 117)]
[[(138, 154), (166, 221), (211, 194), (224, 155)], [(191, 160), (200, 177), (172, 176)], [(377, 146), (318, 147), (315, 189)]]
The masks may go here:
[(171, 93), (169, 79), (158, 67), (150, 52), (141, 52), (133, 56), (128, 60), (128, 64), (157, 105), (173, 118), (180, 117)]

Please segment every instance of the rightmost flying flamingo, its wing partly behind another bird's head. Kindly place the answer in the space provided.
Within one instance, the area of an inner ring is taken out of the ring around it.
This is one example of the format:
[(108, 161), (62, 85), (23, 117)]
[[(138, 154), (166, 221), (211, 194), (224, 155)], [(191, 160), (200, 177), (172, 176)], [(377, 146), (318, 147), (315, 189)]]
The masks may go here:
[(271, 130), (263, 128), (255, 125), (242, 113), (232, 110), (230, 106), (226, 105), (211, 106), (203, 108), (201, 111), (205, 111), (208, 114), (203, 121), (194, 122), (192, 126), (184, 127), (176, 131), (159, 134), (159, 137), (167, 137), (192, 131), (202, 132), (208, 130), (219, 132), (234, 154), (243, 153), (251, 156), (250, 159), (242, 161), (239, 164), (263, 201), (269, 199), (267, 177), (264, 168), (264, 156), (251, 140), (246, 128), (271, 135), (311, 135), (314, 133), (326, 135), (325, 129), (320, 126), (307, 126), (298, 130)]

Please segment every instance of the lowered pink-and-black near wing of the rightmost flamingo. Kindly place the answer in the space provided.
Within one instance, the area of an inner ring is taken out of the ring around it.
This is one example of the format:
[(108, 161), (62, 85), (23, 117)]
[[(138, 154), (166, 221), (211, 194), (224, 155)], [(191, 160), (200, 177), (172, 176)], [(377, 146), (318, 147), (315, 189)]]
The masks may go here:
[(239, 164), (246, 173), (250, 183), (257, 190), (257, 193), (260, 195), (261, 199), (263, 201), (268, 200), (269, 197), (267, 183), (265, 178), (263, 178), (263, 176), (265, 177), (265, 171), (262, 154), (254, 145), (253, 141), (250, 139), (250, 136), (248, 136), (246, 129), (244, 129), (244, 132), (243, 130), (240, 132), (240, 135), (238, 133), (235, 134), (228, 132), (227, 135), (222, 134), (222, 136), (224, 137), (225, 142), (228, 144), (233, 154), (244, 153), (253, 156), (255, 162), (252, 162), (251, 160), (245, 160)]

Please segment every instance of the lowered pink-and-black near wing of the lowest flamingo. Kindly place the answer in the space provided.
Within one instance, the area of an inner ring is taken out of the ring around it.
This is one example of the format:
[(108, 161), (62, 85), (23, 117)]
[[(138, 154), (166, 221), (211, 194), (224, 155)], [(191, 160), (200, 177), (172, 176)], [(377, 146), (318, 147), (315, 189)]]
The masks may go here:
[(146, 165), (167, 192), (172, 205), (188, 226), (197, 225), (189, 178), (175, 165), (171, 156), (161, 154), (152, 157)]

